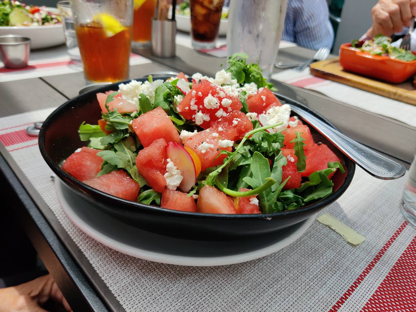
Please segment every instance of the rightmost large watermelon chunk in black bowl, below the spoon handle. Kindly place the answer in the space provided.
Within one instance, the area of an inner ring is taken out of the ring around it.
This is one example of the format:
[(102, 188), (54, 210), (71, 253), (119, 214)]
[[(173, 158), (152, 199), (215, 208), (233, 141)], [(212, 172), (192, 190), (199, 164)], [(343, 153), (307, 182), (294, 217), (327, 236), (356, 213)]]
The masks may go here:
[[(315, 171), (327, 168), (328, 162), (335, 162), (341, 160), (333, 151), (329, 149), (325, 144), (315, 144), (312, 148), (305, 151), (306, 169), (301, 174), (302, 176), (309, 176)], [(331, 178), (334, 173), (331, 173), (328, 178)]]

